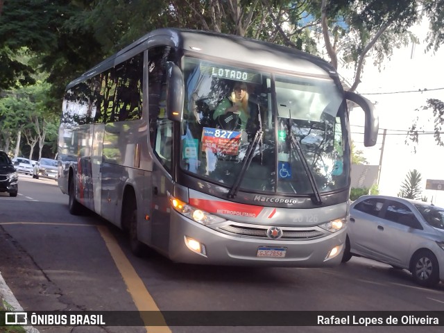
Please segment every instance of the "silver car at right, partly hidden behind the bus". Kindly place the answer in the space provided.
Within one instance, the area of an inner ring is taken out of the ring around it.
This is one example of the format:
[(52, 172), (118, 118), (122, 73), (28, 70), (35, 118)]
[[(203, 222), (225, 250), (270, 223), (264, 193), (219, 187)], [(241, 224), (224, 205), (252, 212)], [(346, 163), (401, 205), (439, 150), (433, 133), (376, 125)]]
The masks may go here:
[(444, 281), (444, 208), (392, 196), (350, 206), (343, 262), (352, 255), (404, 268), (425, 287)]

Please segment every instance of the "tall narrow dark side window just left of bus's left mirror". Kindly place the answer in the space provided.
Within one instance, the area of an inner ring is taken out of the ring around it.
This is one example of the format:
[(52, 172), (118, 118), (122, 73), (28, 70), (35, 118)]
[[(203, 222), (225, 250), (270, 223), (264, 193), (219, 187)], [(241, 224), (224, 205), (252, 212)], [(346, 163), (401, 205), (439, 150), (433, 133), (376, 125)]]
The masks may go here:
[(148, 51), (148, 112), (150, 142), (158, 160), (171, 171), (173, 155), (173, 121), (167, 118), (165, 65), (169, 48)]

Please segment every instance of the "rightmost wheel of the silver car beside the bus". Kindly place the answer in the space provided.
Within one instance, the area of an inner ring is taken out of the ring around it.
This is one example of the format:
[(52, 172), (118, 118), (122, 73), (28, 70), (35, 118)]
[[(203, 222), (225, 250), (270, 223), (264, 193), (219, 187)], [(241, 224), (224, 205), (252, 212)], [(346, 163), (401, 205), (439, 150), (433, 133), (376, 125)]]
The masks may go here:
[(421, 250), (411, 258), (410, 271), (413, 280), (424, 287), (433, 287), (439, 283), (439, 264), (429, 250)]

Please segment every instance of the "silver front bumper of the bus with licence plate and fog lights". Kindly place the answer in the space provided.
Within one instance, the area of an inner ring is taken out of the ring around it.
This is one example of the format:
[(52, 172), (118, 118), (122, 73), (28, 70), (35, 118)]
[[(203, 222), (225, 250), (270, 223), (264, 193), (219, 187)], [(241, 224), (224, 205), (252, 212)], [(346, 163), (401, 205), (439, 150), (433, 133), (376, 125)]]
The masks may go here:
[[(225, 234), (191, 221), (176, 212), (171, 212), (170, 223), (169, 258), (173, 262), (229, 266), (325, 267), (340, 264), (345, 248), (346, 228), (318, 239), (274, 240)], [(190, 239), (191, 242), (198, 242), (200, 248), (198, 246), (197, 250), (192, 250)], [(336, 254), (331, 255), (334, 248)]]

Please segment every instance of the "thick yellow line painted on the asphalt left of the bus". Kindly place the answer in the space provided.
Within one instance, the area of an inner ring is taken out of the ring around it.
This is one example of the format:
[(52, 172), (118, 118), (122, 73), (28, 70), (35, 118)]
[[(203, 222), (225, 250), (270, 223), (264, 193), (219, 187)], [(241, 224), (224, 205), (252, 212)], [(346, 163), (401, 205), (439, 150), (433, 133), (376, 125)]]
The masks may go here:
[[(123, 281), (125, 282), (126, 287), (128, 287), (128, 292), (133, 298), (137, 309), (139, 309), (139, 311), (160, 311), (150, 293), (146, 290), (144, 282), (142, 282), (142, 279), (137, 275), (133, 265), (131, 265), (128, 258), (123, 253), (110, 230), (105, 225), (98, 225), (97, 229), (99, 229), (99, 232), (110, 251), (112, 259), (114, 259), (114, 262), (122, 275)], [(162, 323), (164, 326), (149, 326), (149, 323), (145, 324), (147, 325), (145, 326), (146, 332), (171, 333), (171, 330), (165, 321)]]

